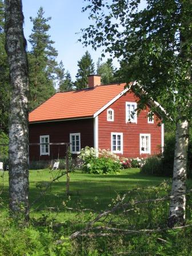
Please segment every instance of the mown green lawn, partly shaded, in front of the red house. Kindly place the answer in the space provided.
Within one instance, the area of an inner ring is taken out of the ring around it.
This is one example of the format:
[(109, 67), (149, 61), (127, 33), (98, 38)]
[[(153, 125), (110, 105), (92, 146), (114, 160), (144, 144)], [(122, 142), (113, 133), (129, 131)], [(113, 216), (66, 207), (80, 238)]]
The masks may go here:
[[(57, 171), (53, 171), (53, 175)], [(45, 189), (47, 182), (52, 178), (50, 170), (30, 170), (30, 203), (39, 197), (41, 189), (37, 186), (41, 184), (42, 190)], [(156, 186), (167, 178), (146, 176), (139, 173), (139, 169), (121, 170), (117, 175), (97, 175), (85, 174), (75, 171), (70, 174), (70, 197), (65, 194), (66, 175), (54, 182), (47, 190), (46, 194), (31, 207), (31, 215), (39, 217), (47, 213), (45, 208), (58, 207), (59, 210), (51, 210), (51, 216), (61, 221), (77, 214), (77, 211), (69, 211), (67, 207), (89, 208), (97, 211), (107, 209), (112, 198), (117, 194), (125, 193), (135, 187)], [(1, 178), (2, 180), (2, 178)], [(2, 198), (7, 202), (8, 198), (8, 173), (4, 175), (4, 189)]]

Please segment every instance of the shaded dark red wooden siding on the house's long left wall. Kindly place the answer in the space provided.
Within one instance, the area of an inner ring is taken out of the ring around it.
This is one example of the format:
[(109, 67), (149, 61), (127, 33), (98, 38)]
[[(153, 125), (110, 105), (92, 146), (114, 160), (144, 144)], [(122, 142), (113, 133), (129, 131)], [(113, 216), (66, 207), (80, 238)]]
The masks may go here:
[[(81, 148), (94, 146), (93, 118), (70, 121), (30, 123), (29, 142), (39, 143), (40, 135), (49, 135), (49, 141), (54, 143), (70, 142), (70, 133), (81, 133)], [(66, 153), (65, 145), (51, 145), (50, 155), (40, 155), (40, 146), (30, 146), (30, 160), (47, 160), (63, 158)]]

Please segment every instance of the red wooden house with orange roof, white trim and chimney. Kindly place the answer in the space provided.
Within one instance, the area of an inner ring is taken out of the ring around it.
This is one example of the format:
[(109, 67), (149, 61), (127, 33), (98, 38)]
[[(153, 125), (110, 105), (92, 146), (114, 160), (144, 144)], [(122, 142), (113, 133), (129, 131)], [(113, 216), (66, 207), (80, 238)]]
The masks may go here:
[[(139, 97), (125, 85), (101, 85), (100, 76), (90, 75), (87, 89), (54, 94), (29, 114), (30, 143), (71, 142), (73, 154), (85, 146), (129, 158), (159, 153), (164, 139), (161, 115), (149, 115), (150, 103), (133, 114)], [(62, 145), (30, 146), (30, 159), (62, 158), (65, 151)]]

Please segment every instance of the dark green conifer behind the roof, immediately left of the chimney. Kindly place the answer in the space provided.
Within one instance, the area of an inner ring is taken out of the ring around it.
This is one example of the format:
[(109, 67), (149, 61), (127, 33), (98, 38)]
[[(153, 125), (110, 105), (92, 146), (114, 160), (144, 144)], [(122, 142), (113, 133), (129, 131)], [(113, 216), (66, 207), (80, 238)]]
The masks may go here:
[(91, 59), (91, 55), (86, 51), (85, 55), (78, 61), (78, 73), (76, 75), (77, 81), (75, 81), (75, 86), (77, 89), (87, 88), (88, 85), (88, 75), (94, 73), (94, 63)]

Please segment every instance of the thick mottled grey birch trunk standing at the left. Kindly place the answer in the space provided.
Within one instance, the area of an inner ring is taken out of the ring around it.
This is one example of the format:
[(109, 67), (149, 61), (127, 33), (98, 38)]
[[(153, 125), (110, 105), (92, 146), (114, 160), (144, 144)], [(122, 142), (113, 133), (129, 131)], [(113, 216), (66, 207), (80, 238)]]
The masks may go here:
[(14, 218), (29, 218), (28, 63), (21, 0), (5, 1), (6, 52), (10, 68), (9, 197)]

